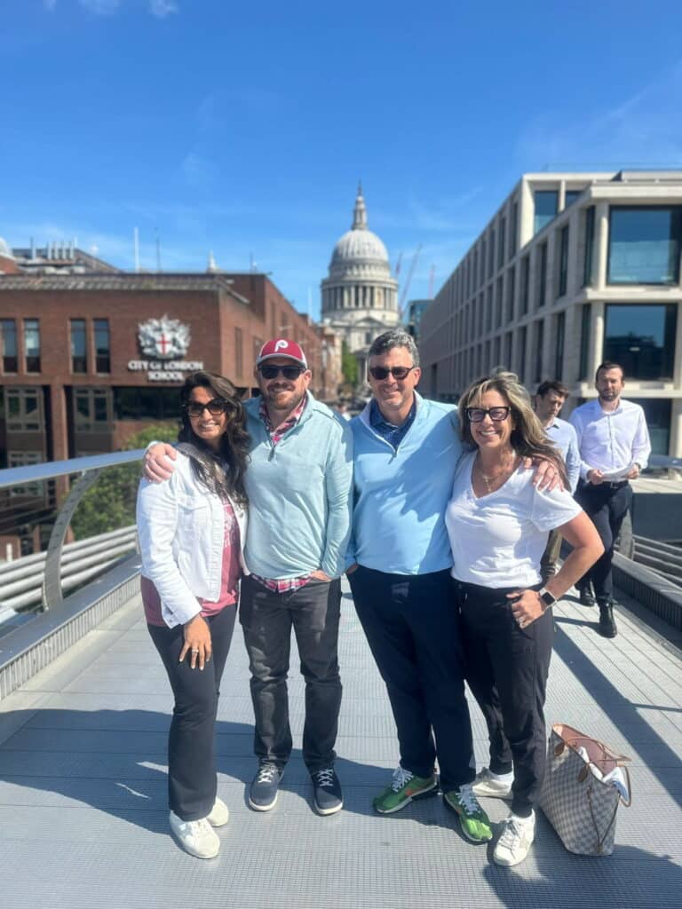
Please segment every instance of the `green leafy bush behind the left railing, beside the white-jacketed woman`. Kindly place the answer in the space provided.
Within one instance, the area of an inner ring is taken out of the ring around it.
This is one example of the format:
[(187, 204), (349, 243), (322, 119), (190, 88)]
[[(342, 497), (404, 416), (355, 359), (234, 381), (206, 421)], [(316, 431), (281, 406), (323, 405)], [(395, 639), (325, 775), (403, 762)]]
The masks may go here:
[[(124, 451), (146, 448), (150, 442), (175, 442), (177, 425), (156, 423), (131, 436)], [(140, 482), (140, 464), (105, 467), (76, 508), (71, 528), (76, 540), (106, 534), (135, 524), (135, 499)]]

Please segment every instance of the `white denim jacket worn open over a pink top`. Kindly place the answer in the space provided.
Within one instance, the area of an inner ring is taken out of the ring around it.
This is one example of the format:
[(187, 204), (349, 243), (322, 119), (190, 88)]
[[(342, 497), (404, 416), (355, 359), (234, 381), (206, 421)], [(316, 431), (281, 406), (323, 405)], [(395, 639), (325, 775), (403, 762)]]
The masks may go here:
[[(239, 562), (244, 561), (246, 510), (230, 499), (239, 525)], [(142, 574), (155, 585), (169, 628), (201, 612), (198, 597), (217, 600), (223, 570), (225, 506), (196, 482), (190, 459), (177, 453), (176, 469), (165, 483), (140, 482), (137, 535)]]

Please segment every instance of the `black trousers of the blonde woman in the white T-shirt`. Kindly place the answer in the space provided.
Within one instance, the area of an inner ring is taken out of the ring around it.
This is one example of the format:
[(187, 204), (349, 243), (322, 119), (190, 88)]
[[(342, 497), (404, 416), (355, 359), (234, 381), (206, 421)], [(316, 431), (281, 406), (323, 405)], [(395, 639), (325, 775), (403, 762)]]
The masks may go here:
[(554, 622), (550, 610), (519, 628), (506, 594), (456, 582), (466, 681), (486, 719), (490, 769), (514, 768), (512, 811), (527, 817), (542, 788), (547, 760), (545, 694)]

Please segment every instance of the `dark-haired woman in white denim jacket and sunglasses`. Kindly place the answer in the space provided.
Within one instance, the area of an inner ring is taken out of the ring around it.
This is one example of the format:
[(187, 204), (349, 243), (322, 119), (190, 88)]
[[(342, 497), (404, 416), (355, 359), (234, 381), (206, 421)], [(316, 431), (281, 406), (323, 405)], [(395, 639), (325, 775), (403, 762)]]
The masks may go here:
[(216, 796), (214, 740), (239, 579), (247, 573), (249, 439), (228, 379), (194, 373), (180, 400), (176, 470), (167, 483), (140, 483), (137, 531), (147, 627), (175, 695), (168, 736), (170, 826), (188, 853), (212, 858), (220, 848), (214, 827), (228, 818)]

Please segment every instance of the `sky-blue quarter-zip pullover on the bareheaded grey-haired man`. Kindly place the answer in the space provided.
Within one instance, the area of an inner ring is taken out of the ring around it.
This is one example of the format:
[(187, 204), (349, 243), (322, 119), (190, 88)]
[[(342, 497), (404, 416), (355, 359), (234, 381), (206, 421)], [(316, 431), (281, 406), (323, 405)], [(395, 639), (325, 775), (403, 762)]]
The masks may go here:
[(369, 405), (350, 422), (355, 506), (346, 567), (428, 574), (452, 566), (445, 511), (462, 453), (456, 407), (415, 396), (415, 421), (397, 451), (370, 425)]

